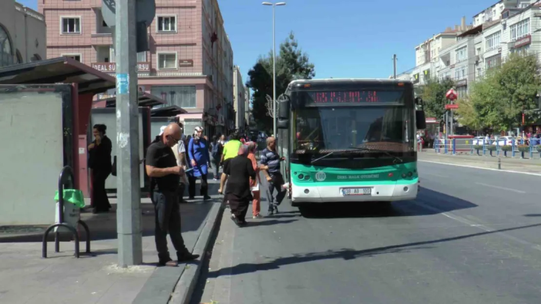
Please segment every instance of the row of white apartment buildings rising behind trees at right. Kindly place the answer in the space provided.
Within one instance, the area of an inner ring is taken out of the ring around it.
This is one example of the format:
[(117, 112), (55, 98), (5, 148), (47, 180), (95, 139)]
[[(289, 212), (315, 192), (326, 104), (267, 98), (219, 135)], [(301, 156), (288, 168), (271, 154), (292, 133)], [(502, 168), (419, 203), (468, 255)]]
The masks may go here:
[(540, 18), (541, 2), (502, 0), (473, 16), (473, 25), (465, 26), (463, 18), (454, 37), (439, 34), (417, 46), (416, 66), (404, 75), (418, 85), (430, 77), (451, 78), (459, 97), (466, 96), (469, 84), (502, 64), (510, 52), (535, 53), (541, 60)]

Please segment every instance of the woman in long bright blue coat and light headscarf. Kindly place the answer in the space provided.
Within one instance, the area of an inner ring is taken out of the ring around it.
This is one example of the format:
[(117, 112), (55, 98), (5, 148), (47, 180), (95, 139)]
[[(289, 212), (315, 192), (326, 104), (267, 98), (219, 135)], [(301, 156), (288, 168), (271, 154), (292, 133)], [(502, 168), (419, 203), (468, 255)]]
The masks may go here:
[[(201, 177), (201, 195), (203, 199), (210, 199), (208, 195), (207, 173), (210, 165), (210, 151), (208, 141), (203, 138), (203, 127), (195, 127), (195, 132), (188, 144), (188, 155), (190, 157), (190, 165), (194, 168), (192, 171), (193, 177)], [(193, 181), (193, 182), (192, 182)], [(195, 197), (195, 179), (190, 180), (188, 188), (189, 198)]]

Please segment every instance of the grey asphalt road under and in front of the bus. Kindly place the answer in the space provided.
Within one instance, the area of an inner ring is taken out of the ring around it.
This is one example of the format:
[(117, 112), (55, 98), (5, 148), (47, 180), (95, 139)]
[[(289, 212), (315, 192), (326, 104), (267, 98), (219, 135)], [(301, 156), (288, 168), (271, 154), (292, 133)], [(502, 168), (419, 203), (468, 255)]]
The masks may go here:
[(392, 210), (284, 202), (245, 228), (226, 211), (192, 303), (539, 303), (541, 177), (419, 172), (418, 199)]

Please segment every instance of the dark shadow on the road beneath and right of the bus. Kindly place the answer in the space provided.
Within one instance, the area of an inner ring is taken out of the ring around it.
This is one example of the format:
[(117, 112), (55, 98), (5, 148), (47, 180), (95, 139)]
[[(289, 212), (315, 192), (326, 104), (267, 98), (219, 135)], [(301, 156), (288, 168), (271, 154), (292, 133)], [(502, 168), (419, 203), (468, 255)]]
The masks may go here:
[(454, 210), (477, 207), (470, 201), (445, 193), (420, 188), (413, 201), (388, 202), (332, 202), (299, 208), (302, 217), (329, 218), (387, 218), (433, 215)]

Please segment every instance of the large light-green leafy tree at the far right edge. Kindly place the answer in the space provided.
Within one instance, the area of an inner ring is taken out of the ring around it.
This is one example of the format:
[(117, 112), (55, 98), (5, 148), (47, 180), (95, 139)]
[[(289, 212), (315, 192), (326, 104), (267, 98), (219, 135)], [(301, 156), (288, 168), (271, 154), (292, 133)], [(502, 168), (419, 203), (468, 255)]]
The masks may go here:
[[(469, 103), (474, 113), (466, 106), (459, 107), (460, 116), (471, 116), (463, 124), (472, 129), (491, 127), (494, 131), (506, 131), (539, 118), (535, 95), (541, 86), (539, 64), (533, 55), (512, 53), (502, 66), (486, 72), (478, 82), (473, 83)], [(472, 118), (476, 118), (474, 123)]]

